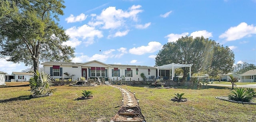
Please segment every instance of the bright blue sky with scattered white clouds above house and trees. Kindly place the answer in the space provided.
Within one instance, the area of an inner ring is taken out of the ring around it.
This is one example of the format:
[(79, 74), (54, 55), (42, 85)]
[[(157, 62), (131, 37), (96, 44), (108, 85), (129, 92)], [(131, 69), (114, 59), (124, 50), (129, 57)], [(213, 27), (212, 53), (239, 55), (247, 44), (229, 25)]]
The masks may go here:
[[(201, 36), (228, 46), (235, 64), (256, 64), (256, 0), (65, 0), (59, 24), (72, 62), (155, 65), (167, 42)], [(234, 65), (235, 65), (234, 64)], [(0, 59), (0, 71), (28, 67)]]

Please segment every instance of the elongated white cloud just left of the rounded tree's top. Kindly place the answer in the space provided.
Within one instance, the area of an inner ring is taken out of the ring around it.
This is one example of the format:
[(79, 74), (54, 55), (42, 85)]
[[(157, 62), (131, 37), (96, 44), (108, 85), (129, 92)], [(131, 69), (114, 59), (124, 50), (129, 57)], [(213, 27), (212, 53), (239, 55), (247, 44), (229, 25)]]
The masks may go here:
[(159, 51), (162, 48), (161, 43), (156, 41), (151, 41), (148, 43), (147, 46), (141, 46), (141, 47), (133, 47), (132, 49), (129, 49), (129, 53), (135, 54), (135, 55), (142, 55), (145, 53), (153, 53), (155, 51)]

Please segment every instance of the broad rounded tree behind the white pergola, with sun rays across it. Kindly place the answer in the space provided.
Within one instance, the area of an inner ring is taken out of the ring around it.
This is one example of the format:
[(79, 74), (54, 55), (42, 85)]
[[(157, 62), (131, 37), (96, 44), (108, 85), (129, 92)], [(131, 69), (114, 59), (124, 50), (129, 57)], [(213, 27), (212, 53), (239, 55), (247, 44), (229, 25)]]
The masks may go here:
[[(186, 36), (168, 42), (157, 54), (156, 66), (170, 63), (193, 64), (192, 73), (205, 72), (216, 76), (231, 71), (234, 53), (208, 38)], [(182, 79), (185, 79), (189, 67), (182, 70)]]

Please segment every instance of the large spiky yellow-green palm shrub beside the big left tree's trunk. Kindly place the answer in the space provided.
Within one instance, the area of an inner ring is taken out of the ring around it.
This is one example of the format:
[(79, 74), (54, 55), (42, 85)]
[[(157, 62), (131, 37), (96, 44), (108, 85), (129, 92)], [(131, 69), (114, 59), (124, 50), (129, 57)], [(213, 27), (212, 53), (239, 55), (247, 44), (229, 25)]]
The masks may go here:
[(50, 75), (42, 71), (39, 73), (38, 71), (34, 72), (33, 77), (29, 80), (31, 93), (34, 96), (39, 95), (47, 95), (52, 93), (54, 89), (50, 89), (50, 86), (53, 85)]

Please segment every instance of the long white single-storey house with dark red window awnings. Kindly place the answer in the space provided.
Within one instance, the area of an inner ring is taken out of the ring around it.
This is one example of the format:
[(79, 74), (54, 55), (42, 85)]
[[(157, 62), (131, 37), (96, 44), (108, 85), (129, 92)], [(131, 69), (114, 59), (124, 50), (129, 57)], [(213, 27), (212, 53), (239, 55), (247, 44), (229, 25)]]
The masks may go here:
[(100, 61), (89, 61), (86, 63), (72, 62), (44, 62), (44, 72), (48, 73), (53, 79), (68, 78), (64, 75), (65, 72), (74, 75), (74, 80), (85, 77), (87, 80), (90, 77), (106, 77), (112, 80), (120, 79), (124, 76), (126, 80), (143, 80), (140, 76), (144, 73), (146, 77), (156, 76), (157, 68), (139, 65), (116, 65), (105, 64)]

